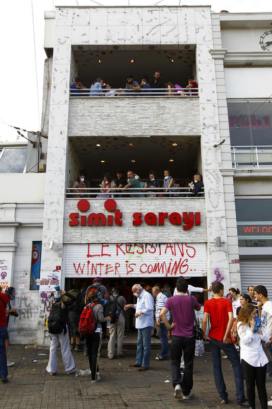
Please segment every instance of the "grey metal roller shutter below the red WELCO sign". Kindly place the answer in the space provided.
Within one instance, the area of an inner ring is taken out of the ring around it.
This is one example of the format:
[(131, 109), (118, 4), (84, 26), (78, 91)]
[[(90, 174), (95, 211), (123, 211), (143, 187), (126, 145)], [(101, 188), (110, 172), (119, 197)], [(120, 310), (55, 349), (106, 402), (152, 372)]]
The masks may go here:
[(242, 291), (249, 285), (262, 284), (267, 288), (268, 298), (272, 299), (272, 259), (240, 260)]

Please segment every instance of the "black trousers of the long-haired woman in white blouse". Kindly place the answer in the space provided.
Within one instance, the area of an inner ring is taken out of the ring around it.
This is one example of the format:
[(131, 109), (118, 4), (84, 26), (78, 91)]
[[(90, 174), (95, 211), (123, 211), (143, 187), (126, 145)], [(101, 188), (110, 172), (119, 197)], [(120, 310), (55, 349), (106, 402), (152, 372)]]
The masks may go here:
[(242, 359), (243, 375), (246, 384), (246, 396), (249, 406), (255, 409), (255, 382), (262, 409), (267, 409), (267, 393), (265, 389), (266, 365), (264, 367), (253, 367)]

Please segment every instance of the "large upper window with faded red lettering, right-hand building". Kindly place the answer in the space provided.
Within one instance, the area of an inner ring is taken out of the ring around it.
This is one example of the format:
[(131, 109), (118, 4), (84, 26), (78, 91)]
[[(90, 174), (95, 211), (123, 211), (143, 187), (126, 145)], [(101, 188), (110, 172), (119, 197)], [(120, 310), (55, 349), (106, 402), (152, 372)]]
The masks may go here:
[(228, 101), (232, 146), (272, 146), (272, 101)]

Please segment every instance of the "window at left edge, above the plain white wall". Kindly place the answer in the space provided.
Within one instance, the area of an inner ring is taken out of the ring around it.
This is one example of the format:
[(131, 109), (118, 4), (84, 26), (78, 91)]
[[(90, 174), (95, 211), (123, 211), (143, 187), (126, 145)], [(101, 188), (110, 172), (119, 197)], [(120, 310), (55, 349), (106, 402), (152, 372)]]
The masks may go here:
[(22, 173), (27, 163), (27, 148), (3, 148), (0, 151), (0, 173)]

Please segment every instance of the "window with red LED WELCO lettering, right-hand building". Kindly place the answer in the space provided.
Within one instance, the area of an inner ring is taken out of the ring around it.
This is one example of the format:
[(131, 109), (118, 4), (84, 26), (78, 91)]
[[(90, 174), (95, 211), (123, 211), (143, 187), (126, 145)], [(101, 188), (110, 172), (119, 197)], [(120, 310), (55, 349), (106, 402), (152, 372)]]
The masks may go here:
[(272, 198), (235, 199), (240, 247), (272, 246)]

